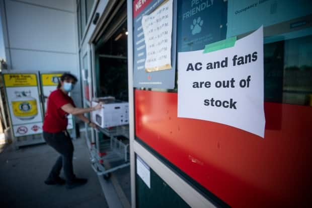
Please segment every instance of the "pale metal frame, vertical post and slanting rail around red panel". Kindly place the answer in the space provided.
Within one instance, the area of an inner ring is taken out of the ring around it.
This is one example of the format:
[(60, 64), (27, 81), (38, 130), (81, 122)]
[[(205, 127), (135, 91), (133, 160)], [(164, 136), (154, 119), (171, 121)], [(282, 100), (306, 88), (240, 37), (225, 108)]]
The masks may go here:
[[(175, 1), (175, 0), (174, 0)], [(190, 184), (179, 177), (167, 165), (153, 156), (147, 149), (135, 141), (134, 135), (134, 88), (133, 88), (133, 1), (127, 0), (128, 28), (128, 89), (129, 89), (129, 133), (130, 133), (130, 171), (131, 171), (131, 203), (136, 207), (135, 187), (135, 155), (153, 169), (183, 200), (191, 207), (215, 207), (212, 202), (201, 195)]]

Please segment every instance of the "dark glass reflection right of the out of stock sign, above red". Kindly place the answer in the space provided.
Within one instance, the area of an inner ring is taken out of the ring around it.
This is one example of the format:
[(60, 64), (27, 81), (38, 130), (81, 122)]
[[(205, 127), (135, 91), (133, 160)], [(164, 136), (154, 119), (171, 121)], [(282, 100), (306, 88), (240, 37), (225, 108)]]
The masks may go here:
[(312, 36), (265, 44), (265, 101), (311, 105), (311, 56)]

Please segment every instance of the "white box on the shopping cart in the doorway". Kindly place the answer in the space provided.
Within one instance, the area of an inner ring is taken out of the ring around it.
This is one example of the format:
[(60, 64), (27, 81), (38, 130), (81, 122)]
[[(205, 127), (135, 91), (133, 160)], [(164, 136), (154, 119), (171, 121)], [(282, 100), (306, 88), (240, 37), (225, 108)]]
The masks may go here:
[[(92, 106), (98, 102), (92, 101)], [(92, 112), (92, 122), (102, 128), (125, 125), (129, 123), (129, 104), (127, 102), (114, 101), (102, 104), (102, 108)]]

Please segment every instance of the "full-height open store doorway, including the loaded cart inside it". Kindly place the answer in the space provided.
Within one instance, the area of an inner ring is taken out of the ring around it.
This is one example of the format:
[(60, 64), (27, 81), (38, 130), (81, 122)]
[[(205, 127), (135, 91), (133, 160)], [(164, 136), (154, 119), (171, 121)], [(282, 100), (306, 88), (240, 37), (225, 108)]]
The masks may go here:
[[(102, 33), (94, 43), (93, 100), (104, 104), (101, 112), (92, 115), (99, 126), (94, 134), (96, 153), (93, 159), (96, 172), (111, 180), (119, 190), (116, 193), (123, 206), (130, 207), (126, 4), (113, 9), (112, 13), (114, 15), (104, 22)], [(108, 127), (105, 126), (109, 122)]]

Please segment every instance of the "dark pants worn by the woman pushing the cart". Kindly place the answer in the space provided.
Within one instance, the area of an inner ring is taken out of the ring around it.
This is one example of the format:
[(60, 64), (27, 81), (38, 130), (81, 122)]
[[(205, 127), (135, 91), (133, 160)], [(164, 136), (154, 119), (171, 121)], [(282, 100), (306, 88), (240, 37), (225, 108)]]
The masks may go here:
[(56, 150), (60, 156), (57, 158), (48, 179), (54, 180), (59, 177), (63, 167), (65, 179), (67, 183), (71, 183), (75, 178), (72, 168), (73, 145), (68, 133), (48, 133), (43, 131), (43, 137), (46, 143)]

